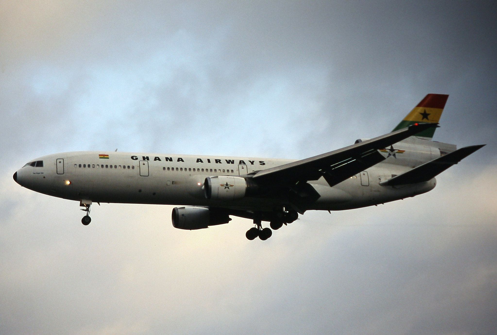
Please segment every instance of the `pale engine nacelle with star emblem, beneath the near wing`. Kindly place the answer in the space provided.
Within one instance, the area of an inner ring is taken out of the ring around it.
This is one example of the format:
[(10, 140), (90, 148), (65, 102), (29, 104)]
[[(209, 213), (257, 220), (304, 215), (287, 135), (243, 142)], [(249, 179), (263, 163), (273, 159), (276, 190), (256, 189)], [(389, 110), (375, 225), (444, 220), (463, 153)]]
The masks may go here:
[(247, 195), (250, 184), (247, 179), (230, 175), (207, 177), (204, 182), (204, 192), (207, 199), (235, 200)]

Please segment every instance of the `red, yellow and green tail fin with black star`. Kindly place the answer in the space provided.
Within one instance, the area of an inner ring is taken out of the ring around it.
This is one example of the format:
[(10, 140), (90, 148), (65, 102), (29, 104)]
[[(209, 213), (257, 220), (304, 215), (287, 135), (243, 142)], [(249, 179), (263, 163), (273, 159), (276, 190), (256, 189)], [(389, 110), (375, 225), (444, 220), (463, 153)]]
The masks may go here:
[[(407, 128), (416, 122), (438, 123), (448, 98), (448, 94), (427, 94), (426, 97), (424, 97), (392, 131)], [(431, 140), (435, 133), (435, 129), (436, 128), (428, 128), (423, 130), (416, 134), (416, 137), (423, 137)]]

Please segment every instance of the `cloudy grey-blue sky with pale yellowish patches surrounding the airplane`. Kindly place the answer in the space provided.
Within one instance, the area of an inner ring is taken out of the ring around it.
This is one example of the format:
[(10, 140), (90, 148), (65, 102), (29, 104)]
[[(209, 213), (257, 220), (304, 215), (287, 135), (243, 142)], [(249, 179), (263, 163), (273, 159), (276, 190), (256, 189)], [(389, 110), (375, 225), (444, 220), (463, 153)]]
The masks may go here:
[[(484, 4), (485, 3), (485, 4)], [(0, 334), (496, 334), (497, 6), (1, 1)], [(434, 140), (487, 144), (424, 195), (172, 227), (15, 170), (75, 150), (301, 159), (449, 94)]]

